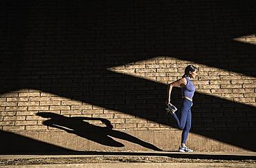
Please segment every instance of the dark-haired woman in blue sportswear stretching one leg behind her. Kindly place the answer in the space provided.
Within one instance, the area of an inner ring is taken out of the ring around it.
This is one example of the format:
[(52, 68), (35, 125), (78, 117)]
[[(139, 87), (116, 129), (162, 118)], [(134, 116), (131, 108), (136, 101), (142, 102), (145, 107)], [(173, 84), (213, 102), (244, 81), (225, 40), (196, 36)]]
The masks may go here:
[(181, 134), (181, 146), (179, 147), (179, 151), (181, 152), (192, 152), (192, 149), (189, 149), (185, 142), (188, 138), (188, 132), (190, 132), (191, 127), (191, 107), (193, 102), (193, 96), (195, 92), (195, 87), (191, 78), (195, 78), (197, 75), (197, 68), (194, 65), (188, 65), (185, 67), (185, 74), (180, 78), (178, 81), (170, 83), (168, 89), (168, 99), (166, 103), (170, 103), (171, 101), (171, 93), (172, 87), (181, 87), (181, 95), (182, 95), (182, 107), (181, 107), (181, 118), (179, 119), (178, 116), (173, 112), (171, 113), (176, 120), (179, 129), (182, 129), (183, 132)]

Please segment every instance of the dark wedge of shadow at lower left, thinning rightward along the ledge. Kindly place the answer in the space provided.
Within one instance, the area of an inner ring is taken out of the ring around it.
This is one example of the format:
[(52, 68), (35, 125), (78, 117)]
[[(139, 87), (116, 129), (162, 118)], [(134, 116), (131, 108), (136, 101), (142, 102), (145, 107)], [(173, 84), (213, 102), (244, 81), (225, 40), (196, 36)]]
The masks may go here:
[(214, 160), (256, 160), (253, 155), (217, 155), (217, 154), (181, 154), (179, 152), (124, 152), (124, 151), (74, 151), (57, 147), (39, 140), (33, 140), (15, 134), (0, 130), (0, 155), (82, 155), (85, 156), (165, 156), (170, 158), (198, 158)]

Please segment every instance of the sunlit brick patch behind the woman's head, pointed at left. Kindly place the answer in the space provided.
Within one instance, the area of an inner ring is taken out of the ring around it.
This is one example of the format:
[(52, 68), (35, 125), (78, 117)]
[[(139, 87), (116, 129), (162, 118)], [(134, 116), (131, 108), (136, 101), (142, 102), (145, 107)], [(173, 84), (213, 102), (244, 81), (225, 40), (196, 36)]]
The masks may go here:
[(217, 67), (209, 67), (171, 56), (158, 56), (127, 65), (109, 67), (107, 70), (167, 85), (181, 78), (185, 66), (189, 64), (198, 67), (199, 76), (194, 80), (196, 92), (256, 106), (256, 78)]

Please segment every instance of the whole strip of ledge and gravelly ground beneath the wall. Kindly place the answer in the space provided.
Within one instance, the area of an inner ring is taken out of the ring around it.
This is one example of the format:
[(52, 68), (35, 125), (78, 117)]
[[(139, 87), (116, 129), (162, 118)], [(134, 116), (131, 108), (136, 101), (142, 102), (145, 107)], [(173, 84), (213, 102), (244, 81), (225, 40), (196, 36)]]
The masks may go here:
[[(88, 153), (88, 152), (87, 152)], [(0, 167), (255, 167), (256, 152), (96, 152), (77, 155), (0, 155)], [(62, 164), (61, 164), (62, 163)], [(24, 165), (22, 165), (24, 164)], [(33, 165), (40, 164), (40, 165)], [(50, 165), (51, 164), (51, 165)]]

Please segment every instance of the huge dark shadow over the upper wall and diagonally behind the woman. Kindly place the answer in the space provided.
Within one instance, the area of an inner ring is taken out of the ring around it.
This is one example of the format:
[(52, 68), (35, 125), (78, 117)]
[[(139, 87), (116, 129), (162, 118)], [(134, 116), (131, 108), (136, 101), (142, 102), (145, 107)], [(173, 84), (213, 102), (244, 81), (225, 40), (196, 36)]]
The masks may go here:
[[(166, 85), (106, 69), (164, 55), (255, 76), (255, 46), (232, 41), (255, 33), (252, 6), (1, 1), (0, 93), (42, 90), (173, 125), (165, 112)], [(192, 132), (256, 151), (255, 107), (198, 93), (194, 100)]]

